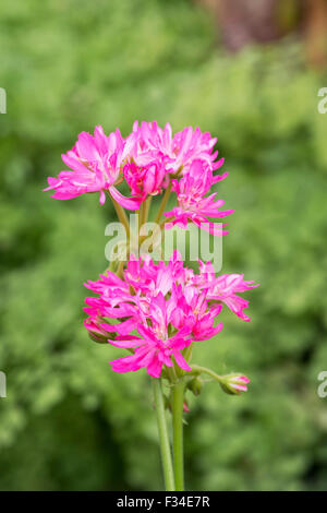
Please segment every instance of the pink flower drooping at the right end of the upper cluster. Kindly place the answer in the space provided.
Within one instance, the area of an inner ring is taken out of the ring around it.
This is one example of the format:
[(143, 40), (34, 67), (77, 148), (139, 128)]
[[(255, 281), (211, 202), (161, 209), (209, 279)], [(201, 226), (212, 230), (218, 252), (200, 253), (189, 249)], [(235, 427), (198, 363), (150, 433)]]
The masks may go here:
[(201, 160), (194, 160), (189, 171), (179, 181), (172, 180), (172, 190), (177, 193), (179, 206), (164, 214), (166, 217), (173, 217), (170, 223), (166, 224), (166, 228), (169, 229), (173, 225), (186, 228), (187, 222), (191, 220), (213, 235), (228, 234), (217, 227), (208, 217), (225, 217), (232, 214), (233, 211), (220, 211), (225, 201), (215, 200), (216, 192), (205, 196), (213, 183), (222, 180), (227, 175), (225, 172), (222, 176), (214, 178), (209, 167), (205, 167)]

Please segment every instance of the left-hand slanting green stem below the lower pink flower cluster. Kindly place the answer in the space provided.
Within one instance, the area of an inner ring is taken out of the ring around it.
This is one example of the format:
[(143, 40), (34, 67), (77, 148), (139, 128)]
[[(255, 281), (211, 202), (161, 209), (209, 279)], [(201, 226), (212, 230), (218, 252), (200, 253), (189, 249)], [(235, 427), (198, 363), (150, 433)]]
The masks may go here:
[(154, 395), (157, 411), (158, 432), (160, 441), (161, 462), (164, 468), (166, 491), (174, 491), (174, 478), (171, 463), (169, 436), (166, 422), (162, 384), (160, 378), (154, 378)]

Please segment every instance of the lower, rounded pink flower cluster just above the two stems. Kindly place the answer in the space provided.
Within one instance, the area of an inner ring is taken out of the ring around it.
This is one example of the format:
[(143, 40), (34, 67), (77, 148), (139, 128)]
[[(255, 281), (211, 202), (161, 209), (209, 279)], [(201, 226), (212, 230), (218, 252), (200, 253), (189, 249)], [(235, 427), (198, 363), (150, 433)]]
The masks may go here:
[(98, 295), (86, 298), (88, 332), (132, 353), (111, 361), (112, 370), (129, 372), (145, 367), (158, 378), (162, 366), (172, 367), (173, 362), (184, 371), (192, 370), (185, 351), (193, 342), (221, 331), (222, 323), (216, 325), (215, 320), (222, 305), (250, 320), (243, 312), (247, 301), (238, 293), (256, 285), (237, 274), (216, 277), (209, 263), (199, 262), (199, 273), (195, 274), (175, 251), (168, 264), (132, 255), (123, 279), (108, 272), (85, 286)]

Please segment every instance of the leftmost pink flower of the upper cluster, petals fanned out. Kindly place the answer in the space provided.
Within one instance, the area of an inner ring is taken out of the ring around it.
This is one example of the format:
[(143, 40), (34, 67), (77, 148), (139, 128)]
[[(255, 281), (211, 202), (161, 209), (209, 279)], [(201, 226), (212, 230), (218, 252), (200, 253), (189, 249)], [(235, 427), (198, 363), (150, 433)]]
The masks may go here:
[(105, 192), (129, 210), (140, 207), (140, 199), (123, 196), (114, 187), (121, 181), (121, 167), (129, 156), (133, 141), (125, 142), (120, 131), (105, 135), (101, 127), (96, 127), (94, 135), (82, 132), (75, 146), (65, 155), (63, 163), (71, 171), (61, 171), (58, 178), (48, 178), (49, 187), (55, 189), (51, 198), (70, 200), (84, 193), (100, 192), (100, 203), (106, 201)]

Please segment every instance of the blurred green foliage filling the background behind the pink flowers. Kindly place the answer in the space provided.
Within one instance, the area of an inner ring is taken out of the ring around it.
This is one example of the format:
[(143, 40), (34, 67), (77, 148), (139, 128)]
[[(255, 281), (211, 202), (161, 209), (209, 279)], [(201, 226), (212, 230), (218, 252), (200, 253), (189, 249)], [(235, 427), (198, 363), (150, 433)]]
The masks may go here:
[(222, 271), (262, 284), (250, 324), (227, 312), (197, 345), (198, 363), (252, 384), (242, 397), (214, 383), (190, 397), (189, 489), (326, 488), (327, 77), (291, 41), (226, 57), (183, 0), (25, 0), (0, 13), (0, 489), (161, 487), (149, 381), (112, 373), (121, 351), (82, 324), (110, 205), (41, 192), (80, 131), (126, 134), (134, 119), (218, 135), (230, 170), (219, 192), (235, 208)]

